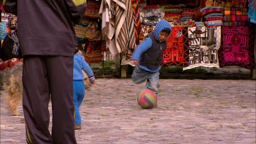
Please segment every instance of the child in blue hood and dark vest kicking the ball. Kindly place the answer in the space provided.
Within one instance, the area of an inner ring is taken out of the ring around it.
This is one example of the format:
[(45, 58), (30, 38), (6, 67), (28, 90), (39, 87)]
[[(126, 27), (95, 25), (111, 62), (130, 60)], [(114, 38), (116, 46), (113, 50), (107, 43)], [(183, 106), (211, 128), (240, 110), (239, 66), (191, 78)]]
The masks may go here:
[(132, 54), (131, 63), (136, 65), (132, 72), (134, 83), (143, 83), (145, 87), (158, 94), (159, 70), (162, 62), (162, 53), (167, 48), (167, 38), (171, 34), (171, 25), (166, 20), (160, 20), (154, 31), (137, 46)]

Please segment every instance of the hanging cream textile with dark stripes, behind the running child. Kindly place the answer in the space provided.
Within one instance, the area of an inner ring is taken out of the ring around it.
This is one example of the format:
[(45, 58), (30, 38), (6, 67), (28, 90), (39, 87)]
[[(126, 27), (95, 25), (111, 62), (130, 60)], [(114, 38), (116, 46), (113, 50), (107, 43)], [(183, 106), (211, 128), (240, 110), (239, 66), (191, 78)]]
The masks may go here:
[(135, 48), (134, 20), (130, 0), (102, 0), (99, 16), (102, 35), (112, 56)]

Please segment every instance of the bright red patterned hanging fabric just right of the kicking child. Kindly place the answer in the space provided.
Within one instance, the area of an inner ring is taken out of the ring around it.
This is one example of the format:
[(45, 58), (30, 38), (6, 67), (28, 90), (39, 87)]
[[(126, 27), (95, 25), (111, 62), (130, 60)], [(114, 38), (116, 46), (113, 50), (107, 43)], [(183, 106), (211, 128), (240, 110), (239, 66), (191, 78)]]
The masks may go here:
[(167, 49), (163, 53), (162, 65), (188, 66), (188, 31), (187, 27), (173, 27), (167, 39)]

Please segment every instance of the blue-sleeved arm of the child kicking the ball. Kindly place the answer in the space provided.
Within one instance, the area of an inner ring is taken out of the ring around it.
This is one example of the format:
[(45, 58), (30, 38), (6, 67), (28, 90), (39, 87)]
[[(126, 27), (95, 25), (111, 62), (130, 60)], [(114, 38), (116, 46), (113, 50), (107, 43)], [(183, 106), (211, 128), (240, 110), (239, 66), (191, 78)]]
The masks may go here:
[(141, 55), (150, 49), (152, 47), (152, 40), (150, 38), (145, 38), (139, 46), (135, 49), (134, 53), (132, 54), (131, 62), (134, 65), (139, 64), (139, 61), (141, 60)]

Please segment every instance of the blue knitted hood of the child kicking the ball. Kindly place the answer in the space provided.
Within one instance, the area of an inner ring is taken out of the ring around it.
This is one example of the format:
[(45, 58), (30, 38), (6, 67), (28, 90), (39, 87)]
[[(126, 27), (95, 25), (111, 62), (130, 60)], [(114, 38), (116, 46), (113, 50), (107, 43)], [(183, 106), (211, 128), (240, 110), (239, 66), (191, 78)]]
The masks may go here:
[[(156, 27), (154, 28), (154, 37), (156, 38), (156, 40), (159, 40), (159, 34), (162, 31), (162, 29), (170, 29), (171, 30), (171, 25), (167, 22), (167, 20), (160, 20), (156, 24)], [(171, 35), (171, 33), (169, 35)], [(168, 35), (168, 37), (169, 37), (169, 35)]]

